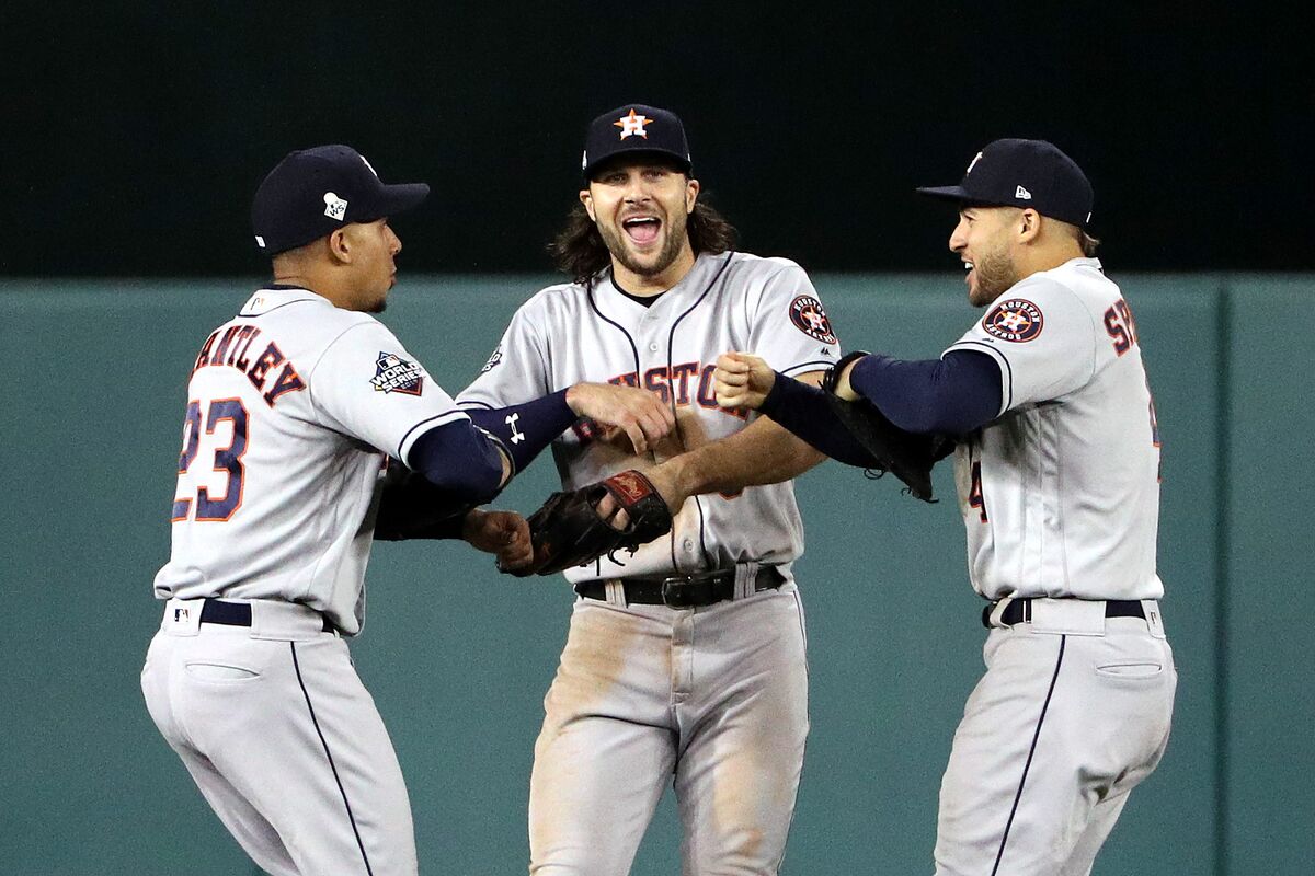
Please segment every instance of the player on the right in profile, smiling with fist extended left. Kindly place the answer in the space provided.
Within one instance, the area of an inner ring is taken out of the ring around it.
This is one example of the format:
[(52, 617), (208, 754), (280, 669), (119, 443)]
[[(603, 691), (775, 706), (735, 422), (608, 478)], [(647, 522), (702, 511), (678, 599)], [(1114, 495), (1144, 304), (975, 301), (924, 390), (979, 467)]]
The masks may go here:
[[(1160, 437), (1136, 322), (1094, 257), (1091, 186), (1040, 141), (986, 146), (949, 248), (986, 315), (940, 360), (859, 356), (836, 394), (960, 435), (955, 474), (986, 674), (940, 789), (936, 873), (1088, 873), (1160, 762), (1177, 674), (1156, 574)], [(727, 355), (721, 403), (852, 456), (818, 390)], [(821, 402), (821, 403), (819, 403)]]

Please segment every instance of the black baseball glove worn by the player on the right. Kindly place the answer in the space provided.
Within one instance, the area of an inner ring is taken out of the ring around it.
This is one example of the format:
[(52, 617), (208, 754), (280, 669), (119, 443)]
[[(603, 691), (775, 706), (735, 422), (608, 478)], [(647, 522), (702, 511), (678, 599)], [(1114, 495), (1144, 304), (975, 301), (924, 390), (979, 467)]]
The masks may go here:
[(931, 490), (931, 466), (949, 456), (955, 440), (948, 435), (906, 432), (886, 419), (876, 405), (865, 398), (849, 402), (835, 394), (836, 382), (844, 369), (857, 359), (868, 356), (857, 349), (827, 370), (822, 390), (836, 419), (863, 449), (872, 454), (868, 470), (874, 477), (886, 471), (905, 483), (905, 491), (923, 502), (935, 502)]

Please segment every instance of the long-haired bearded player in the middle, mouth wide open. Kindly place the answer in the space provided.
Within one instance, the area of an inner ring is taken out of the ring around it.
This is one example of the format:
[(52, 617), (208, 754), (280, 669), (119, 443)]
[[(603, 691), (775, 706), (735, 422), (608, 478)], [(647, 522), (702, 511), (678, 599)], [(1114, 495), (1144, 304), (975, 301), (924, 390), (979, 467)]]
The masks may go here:
[(676, 114), (627, 104), (596, 118), (555, 244), (573, 280), (515, 313), (458, 397), (475, 412), (604, 381), (673, 416), (647, 447), (589, 420), (552, 445), (565, 489), (639, 469), (675, 525), (565, 573), (577, 599), (530, 783), (537, 876), (627, 873), (668, 781), (685, 873), (776, 873), (794, 808), (807, 672), (790, 478), (822, 457), (718, 408), (711, 376), (739, 347), (817, 381), (839, 347), (797, 264), (731, 251), (690, 167)]

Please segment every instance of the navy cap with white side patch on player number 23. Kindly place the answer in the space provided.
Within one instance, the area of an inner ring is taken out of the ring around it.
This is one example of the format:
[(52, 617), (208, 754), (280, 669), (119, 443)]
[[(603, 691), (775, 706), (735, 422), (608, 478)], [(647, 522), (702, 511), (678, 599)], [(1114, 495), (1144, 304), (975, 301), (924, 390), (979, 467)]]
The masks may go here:
[(385, 185), (350, 146), (288, 152), (264, 177), (251, 202), (255, 243), (277, 255), (318, 240), (351, 222), (373, 222), (419, 205), (423, 183)]

